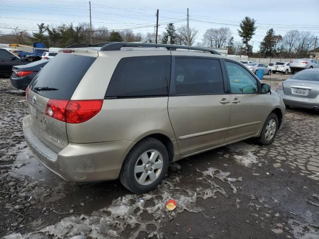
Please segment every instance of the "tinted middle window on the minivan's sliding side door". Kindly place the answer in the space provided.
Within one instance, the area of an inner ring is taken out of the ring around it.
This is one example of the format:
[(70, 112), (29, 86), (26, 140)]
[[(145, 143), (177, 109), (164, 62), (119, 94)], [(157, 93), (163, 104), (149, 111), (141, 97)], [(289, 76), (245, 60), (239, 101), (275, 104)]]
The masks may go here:
[(176, 58), (174, 81), (177, 96), (224, 94), (217, 59)]

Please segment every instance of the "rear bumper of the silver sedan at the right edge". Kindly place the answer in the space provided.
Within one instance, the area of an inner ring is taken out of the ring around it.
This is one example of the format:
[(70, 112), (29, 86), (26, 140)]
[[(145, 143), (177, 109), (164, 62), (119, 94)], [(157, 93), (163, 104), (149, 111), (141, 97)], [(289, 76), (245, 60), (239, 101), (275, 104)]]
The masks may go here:
[(316, 98), (304, 98), (285, 95), (283, 90), (277, 89), (277, 93), (282, 96), (285, 105), (313, 109), (314, 107), (319, 107), (319, 96)]

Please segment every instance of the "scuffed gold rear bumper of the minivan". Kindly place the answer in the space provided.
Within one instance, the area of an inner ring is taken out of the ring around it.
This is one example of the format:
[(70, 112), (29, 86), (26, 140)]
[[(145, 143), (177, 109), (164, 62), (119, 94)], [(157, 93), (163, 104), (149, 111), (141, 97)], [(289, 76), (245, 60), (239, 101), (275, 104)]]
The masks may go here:
[(59, 153), (40, 141), (23, 119), (24, 138), (34, 156), (49, 170), (71, 182), (94, 182), (119, 177), (123, 160), (135, 144), (132, 141), (68, 143)]

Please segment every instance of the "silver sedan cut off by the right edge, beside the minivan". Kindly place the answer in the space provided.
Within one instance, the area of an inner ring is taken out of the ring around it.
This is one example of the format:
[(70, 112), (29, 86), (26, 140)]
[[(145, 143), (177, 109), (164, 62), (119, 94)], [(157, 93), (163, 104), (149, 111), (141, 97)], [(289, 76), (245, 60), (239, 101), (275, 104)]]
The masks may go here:
[(277, 86), (287, 107), (319, 111), (319, 69), (303, 70)]

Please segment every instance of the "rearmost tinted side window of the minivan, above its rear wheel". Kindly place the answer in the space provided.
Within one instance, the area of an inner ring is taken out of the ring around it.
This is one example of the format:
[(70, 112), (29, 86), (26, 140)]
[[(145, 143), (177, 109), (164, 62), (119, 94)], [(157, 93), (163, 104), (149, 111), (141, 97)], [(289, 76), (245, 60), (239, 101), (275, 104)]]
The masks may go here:
[(170, 56), (122, 58), (111, 78), (106, 97), (167, 96)]

